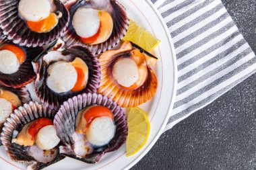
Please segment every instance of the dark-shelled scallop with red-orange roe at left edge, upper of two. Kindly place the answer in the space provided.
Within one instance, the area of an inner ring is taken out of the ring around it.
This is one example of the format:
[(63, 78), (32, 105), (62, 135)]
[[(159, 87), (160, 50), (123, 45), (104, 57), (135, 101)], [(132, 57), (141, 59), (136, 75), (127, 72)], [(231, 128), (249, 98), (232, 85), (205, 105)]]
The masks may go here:
[(31, 83), (36, 77), (31, 62), (41, 52), (41, 47), (28, 48), (11, 43), (1, 44), (0, 83), (13, 88), (24, 87)]

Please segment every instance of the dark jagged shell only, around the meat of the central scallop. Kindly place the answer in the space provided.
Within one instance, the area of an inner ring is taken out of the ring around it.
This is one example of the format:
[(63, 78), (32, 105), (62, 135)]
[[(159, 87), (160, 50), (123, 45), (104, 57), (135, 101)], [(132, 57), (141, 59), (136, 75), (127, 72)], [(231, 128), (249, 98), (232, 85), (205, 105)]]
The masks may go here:
[[(62, 44), (61, 44), (62, 43)], [(96, 93), (100, 86), (100, 63), (98, 58), (90, 52), (87, 48), (79, 45), (69, 46), (65, 48), (64, 42), (56, 40), (53, 42), (48, 49), (46, 49), (34, 62), (34, 71), (36, 72), (36, 94), (40, 97), (41, 101), (49, 108), (58, 110), (59, 106), (75, 95), (81, 93)], [(72, 57), (79, 57), (86, 62), (89, 69), (89, 79), (82, 91), (67, 92), (67, 93), (55, 93), (46, 85), (46, 77), (48, 76), (47, 69), (48, 65), (42, 60), (43, 56), (50, 51), (59, 51), (64, 55), (71, 55)]]

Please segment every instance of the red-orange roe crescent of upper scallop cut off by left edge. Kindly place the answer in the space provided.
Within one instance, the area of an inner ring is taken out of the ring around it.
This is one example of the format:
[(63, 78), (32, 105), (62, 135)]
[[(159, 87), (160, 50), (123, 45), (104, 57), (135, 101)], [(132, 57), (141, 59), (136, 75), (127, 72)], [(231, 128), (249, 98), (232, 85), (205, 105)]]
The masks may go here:
[(0, 50), (9, 50), (13, 52), (17, 56), (20, 63), (23, 63), (26, 60), (26, 53), (24, 50), (22, 50), (22, 48), (18, 46), (12, 44), (4, 44), (0, 47)]

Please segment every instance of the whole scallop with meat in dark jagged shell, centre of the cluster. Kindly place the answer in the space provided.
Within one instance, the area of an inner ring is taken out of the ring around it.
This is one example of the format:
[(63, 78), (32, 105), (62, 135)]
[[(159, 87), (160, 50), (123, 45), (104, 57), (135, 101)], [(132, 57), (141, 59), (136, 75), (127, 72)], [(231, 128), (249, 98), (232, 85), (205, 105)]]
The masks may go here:
[[(84, 67), (77, 66), (77, 61)], [(45, 105), (55, 110), (70, 97), (95, 93), (100, 85), (98, 58), (79, 45), (66, 48), (63, 41), (56, 40), (33, 61), (33, 66), (37, 75), (36, 94)], [(82, 82), (79, 80), (83, 74), (86, 77), (84, 85), (74, 89)]]

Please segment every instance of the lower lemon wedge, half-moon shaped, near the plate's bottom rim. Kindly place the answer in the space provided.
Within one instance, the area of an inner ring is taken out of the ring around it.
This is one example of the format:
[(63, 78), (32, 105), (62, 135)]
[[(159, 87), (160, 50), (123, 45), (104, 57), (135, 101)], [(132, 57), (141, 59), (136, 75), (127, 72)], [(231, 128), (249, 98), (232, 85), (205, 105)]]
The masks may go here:
[(131, 108), (127, 114), (128, 136), (126, 141), (126, 156), (139, 151), (147, 142), (150, 134), (148, 116), (140, 108)]

